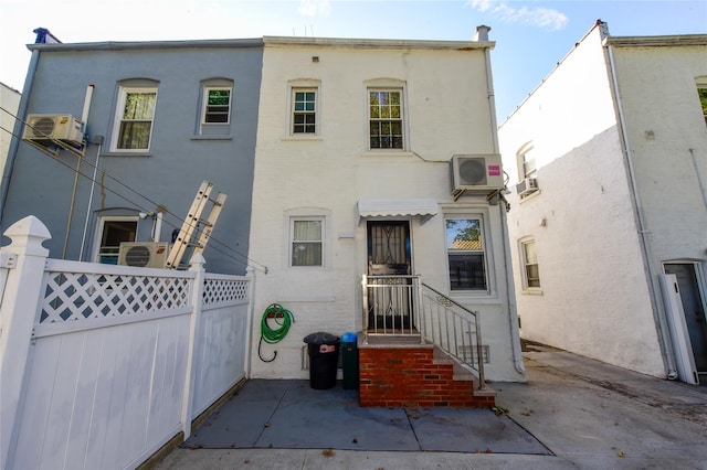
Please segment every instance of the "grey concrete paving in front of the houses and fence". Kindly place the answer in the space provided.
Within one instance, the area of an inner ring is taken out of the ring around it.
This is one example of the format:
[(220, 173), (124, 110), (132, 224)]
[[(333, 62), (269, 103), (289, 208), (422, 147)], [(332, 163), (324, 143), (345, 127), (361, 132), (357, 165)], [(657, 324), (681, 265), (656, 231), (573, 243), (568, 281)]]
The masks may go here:
[(528, 383), (493, 384), (503, 416), (357, 408), (351, 391), (253, 381), (158, 468), (707, 469), (707, 387), (542, 346), (524, 357)]

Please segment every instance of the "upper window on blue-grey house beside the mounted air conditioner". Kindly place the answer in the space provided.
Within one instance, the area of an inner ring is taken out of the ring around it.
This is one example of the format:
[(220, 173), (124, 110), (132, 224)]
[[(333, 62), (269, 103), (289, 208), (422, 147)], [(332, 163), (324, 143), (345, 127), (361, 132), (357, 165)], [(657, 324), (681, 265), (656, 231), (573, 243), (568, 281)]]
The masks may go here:
[(113, 150), (149, 150), (157, 87), (120, 87)]

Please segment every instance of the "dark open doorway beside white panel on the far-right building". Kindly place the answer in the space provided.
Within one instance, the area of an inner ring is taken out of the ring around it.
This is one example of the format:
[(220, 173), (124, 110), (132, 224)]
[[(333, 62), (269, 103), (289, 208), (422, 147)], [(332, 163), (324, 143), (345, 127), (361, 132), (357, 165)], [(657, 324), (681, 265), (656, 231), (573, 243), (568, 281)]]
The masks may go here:
[(685, 322), (695, 356), (695, 367), (698, 374), (707, 374), (707, 319), (705, 302), (697, 285), (695, 265), (666, 264), (665, 273), (673, 274), (677, 278)]

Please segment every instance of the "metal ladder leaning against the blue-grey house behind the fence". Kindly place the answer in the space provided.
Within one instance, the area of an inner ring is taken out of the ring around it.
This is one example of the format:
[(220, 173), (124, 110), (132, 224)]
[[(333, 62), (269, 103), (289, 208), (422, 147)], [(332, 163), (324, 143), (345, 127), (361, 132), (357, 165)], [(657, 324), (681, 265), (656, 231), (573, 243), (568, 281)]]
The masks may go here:
[[(215, 199), (211, 199), (212, 190), (213, 184), (208, 181), (202, 182), (199, 186), (189, 213), (184, 217), (184, 223), (179, 229), (175, 246), (169, 252), (165, 265), (167, 269), (188, 269), (192, 256), (203, 253), (207, 247), (226, 199), (224, 193), (219, 193)], [(201, 218), (201, 214), (210, 202), (212, 204), (209, 215), (207, 218)]]

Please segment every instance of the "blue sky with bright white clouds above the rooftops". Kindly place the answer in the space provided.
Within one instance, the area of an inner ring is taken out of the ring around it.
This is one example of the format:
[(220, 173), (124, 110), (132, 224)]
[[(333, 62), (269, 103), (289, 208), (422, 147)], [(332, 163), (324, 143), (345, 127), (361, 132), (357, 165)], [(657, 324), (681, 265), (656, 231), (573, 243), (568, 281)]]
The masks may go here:
[(62, 42), (296, 35), (464, 41), (492, 28), (499, 124), (594, 22), (612, 35), (707, 33), (707, 0), (0, 0), (0, 82), (22, 89), (35, 28)]

